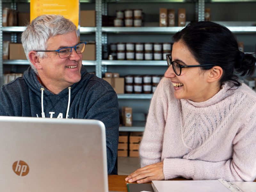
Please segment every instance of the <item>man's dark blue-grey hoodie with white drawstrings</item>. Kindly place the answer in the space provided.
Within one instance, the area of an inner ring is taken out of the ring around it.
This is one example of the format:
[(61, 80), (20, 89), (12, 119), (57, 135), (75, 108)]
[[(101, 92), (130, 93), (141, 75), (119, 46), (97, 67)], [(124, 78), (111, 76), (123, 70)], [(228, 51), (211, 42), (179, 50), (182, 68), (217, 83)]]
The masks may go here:
[(114, 169), (118, 145), (119, 110), (116, 92), (110, 84), (89, 74), (82, 66), (81, 80), (71, 85), (70, 93), (68, 108), (68, 88), (57, 95), (53, 94), (39, 83), (36, 73), (29, 67), (23, 77), (1, 87), (0, 116), (42, 117), (43, 113), (45, 117), (66, 118), (68, 111), (68, 118), (102, 121), (106, 127), (110, 174)]

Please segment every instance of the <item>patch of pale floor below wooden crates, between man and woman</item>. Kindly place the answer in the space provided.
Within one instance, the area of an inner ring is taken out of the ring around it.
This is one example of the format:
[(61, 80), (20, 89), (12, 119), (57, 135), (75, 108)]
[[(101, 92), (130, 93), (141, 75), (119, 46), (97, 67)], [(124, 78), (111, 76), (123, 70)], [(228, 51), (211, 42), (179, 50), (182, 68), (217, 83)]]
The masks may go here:
[(118, 175), (129, 175), (140, 168), (139, 157), (117, 157)]

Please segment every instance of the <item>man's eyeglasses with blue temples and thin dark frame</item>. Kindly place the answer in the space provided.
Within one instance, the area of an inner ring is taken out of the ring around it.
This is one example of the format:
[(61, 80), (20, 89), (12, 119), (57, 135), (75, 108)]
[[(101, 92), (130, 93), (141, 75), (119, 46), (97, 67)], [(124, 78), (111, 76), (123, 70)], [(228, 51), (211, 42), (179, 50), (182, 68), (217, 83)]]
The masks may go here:
[(58, 52), (59, 57), (64, 59), (71, 55), (72, 48), (75, 49), (77, 54), (83, 53), (84, 49), (85, 49), (85, 45), (86, 45), (86, 43), (79, 43), (79, 44), (75, 45), (74, 47), (64, 47), (64, 48), (61, 48), (58, 50), (47, 50), (47, 51), (36, 51), (36, 52)]

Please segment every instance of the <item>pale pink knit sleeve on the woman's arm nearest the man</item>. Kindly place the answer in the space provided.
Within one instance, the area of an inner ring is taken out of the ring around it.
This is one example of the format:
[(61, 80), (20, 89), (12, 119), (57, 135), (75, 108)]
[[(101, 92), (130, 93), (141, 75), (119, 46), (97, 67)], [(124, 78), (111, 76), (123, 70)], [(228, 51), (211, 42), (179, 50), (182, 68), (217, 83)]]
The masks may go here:
[(140, 163), (141, 167), (161, 162), (165, 114), (167, 105), (164, 105), (161, 81), (156, 88), (156, 92), (150, 103), (147, 124), (140, 143)]

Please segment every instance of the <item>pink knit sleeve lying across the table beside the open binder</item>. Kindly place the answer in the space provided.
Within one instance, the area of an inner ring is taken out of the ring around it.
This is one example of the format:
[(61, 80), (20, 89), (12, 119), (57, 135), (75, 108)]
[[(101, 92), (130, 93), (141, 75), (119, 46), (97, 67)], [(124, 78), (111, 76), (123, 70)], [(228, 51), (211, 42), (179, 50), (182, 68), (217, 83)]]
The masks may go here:
[[(232, 141), (232, 158), (210, 162), (179, 158), (164, 159), (164, 178), (178, 176), (194, 180), (228, 178), (235, 181), (253, 181), (256, 178), (256, 109), (247, 111), (247, 121)], [(229, 127), (232, 129), (232, 127)], [(210, 154), (214, 156), (215, 154)]]

